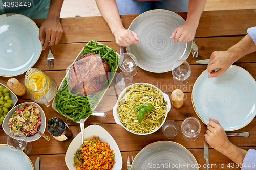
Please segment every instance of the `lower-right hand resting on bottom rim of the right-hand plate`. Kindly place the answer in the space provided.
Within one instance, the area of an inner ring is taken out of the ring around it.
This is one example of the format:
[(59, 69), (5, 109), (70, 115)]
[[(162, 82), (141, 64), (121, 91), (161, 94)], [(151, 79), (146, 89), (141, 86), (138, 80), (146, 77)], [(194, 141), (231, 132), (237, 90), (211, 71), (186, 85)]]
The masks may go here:
[(205, 140), (212, 148), (223, 153), (232, 143), (228, 140), (226, 132), (220, 125), (220, 123), (210, 118), (209, 125), (207, 126), (206, 134), (204, 135)]

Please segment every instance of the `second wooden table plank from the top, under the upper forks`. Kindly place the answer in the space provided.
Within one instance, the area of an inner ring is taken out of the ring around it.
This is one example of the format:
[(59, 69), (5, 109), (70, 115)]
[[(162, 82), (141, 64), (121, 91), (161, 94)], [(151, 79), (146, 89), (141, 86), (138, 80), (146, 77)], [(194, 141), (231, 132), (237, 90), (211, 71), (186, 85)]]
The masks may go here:
[[(214, 51), (225, 51), (232, 45), (239, 42), (243, 36), (239, 37), (213, 37), (213, 38), (196, 38), (196, 43), (199, 50), (199, 59), (209, 59), (211, 53)], [(113, 47), (114, 50), (120, 52), (120, 47), (116, 44), (115, 41), (110, 42), (101, 42), (110, 47)], [(54, 54), (54, 67), (47, 67), (47, 55), (48, 50), (42, 51), (40, 58), (33, 66), (42, 71), (56, 71), (56, 70), (67, 70), (69, 66), (73, 63), (77, 55), (82, 50), (83, 46), (87, 43), (69, 43), (69, 44), (58, 44), (52, 46), (52, 53)], [(256, 53), (251, 53), (246, 55), (246, 57), (241, 58), (236, 63), (250, 63), (256, 62)], [(65, 61), (65, 62), (63, 62)], [(193, 58), (190, 54), (187, 58), (187, 62), (190, 65), (197, 64), (197, 59)], [(24, 74), (25, 76), (25, 74)]]

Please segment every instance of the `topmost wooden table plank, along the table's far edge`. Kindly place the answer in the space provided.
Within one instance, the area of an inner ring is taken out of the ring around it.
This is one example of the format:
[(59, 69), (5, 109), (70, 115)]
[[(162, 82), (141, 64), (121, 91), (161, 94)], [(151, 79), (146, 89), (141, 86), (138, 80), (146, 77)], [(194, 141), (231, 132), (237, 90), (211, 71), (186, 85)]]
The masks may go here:
[[(186, 12), (177, 14), (186, 19)], [(124, 27), (127, 29), (137, 16), (138, 14), (121, 15)], [(255, 26), (255, 17), (256, 12), (253, 9), (204, 11), (196, 37), (245, 35), (249, 27)], [(33, 21), (40, 27), (44, 19), (34, 19)], [(115, 41), (115, 37), (102, 16), (60, 18), (60, 22), (64, 30), (60, 43), (88, 42), (92, 39)]]

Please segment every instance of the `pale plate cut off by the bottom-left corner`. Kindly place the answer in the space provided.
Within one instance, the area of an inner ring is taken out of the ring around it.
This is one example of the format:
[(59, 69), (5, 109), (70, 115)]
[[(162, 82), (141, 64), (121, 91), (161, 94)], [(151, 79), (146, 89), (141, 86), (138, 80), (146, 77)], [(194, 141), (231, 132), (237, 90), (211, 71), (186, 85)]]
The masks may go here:
[(1, 169), (34, 170), (31, 160), (24, 152), (12, 151), (7, 144), (0, 144), (0, 158)]

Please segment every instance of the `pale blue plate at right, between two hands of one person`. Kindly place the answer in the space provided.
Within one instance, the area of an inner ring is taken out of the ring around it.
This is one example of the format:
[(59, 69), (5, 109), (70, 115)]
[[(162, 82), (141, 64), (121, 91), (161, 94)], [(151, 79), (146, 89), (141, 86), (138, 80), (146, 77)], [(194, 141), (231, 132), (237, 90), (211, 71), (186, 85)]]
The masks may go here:
[(198, 117), (206, 124), (218, 120), (225, 131), (248, 125), (256, 115), (256, 82), (245, 69), (231, 65), (216, 77), (205, 70), (192, 90), (192, 103)]

